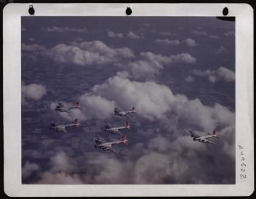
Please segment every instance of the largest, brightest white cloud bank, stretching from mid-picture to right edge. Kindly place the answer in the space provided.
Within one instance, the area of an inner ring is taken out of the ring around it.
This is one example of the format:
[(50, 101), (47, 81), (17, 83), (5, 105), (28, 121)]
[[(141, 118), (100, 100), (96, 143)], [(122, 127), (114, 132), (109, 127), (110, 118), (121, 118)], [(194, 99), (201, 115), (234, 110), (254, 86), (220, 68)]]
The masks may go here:
[[(230, 125), (234, 113), (221, 104), (208, 107), (199, 99), (189, 100), (182, 94), (174, 95), (163, 84), (153, 81), (141, 83), (120, 76), (111, 77), (104, 84), (95, 85), (92, 92), (80, 97), (84, 104), (84, 114), (92, 118), (113, 116), (113, 108), (130, 109), (135, 106), (138, 115), (147, 120), (161, 120), (168, 125), (170, 114), (178, 122), (209, 131), (216, 125)], [(225, 117), (223, 118), (223, 115)]]

